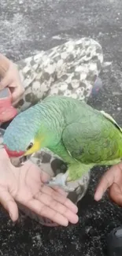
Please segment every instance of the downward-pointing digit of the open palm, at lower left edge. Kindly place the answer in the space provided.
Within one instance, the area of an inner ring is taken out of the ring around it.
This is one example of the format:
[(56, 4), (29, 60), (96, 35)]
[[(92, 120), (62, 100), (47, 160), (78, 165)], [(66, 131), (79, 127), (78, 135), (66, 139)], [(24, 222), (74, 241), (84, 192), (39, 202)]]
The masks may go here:
[(18, 208), (17, 203), (14, 201), (13, 197), (6, 190), (0, 190), (0, 202), (2, 206), (8, 211), (9, 217), (12, 221), (17, 221), (18, 219)]

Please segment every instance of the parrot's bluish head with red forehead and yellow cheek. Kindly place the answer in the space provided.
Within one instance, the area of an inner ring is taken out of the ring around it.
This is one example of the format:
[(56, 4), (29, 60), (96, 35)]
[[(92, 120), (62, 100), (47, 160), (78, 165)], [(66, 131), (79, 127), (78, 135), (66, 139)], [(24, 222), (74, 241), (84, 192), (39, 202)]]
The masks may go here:
[(50, 143), (50, 132), (43, 117), (28, 109), (20, 113), (9, 124), (3, 138), (3, 145), (11, 163), (19, 167), (31, 154)]

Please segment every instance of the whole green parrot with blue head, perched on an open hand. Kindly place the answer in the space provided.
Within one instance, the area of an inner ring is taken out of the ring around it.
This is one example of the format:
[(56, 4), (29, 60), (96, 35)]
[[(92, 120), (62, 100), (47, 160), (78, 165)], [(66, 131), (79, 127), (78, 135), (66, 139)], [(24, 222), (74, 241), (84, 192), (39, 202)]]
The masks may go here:
[(14, 166), (47, 148), (68, 165), (48, 182), (72, 191), (78, 180), (96, 165), (113, 165), (122, 157), (122, 129), (113, 117), (74, 98), (50, 96), (13, 119), (4, 135), (4, 147)]

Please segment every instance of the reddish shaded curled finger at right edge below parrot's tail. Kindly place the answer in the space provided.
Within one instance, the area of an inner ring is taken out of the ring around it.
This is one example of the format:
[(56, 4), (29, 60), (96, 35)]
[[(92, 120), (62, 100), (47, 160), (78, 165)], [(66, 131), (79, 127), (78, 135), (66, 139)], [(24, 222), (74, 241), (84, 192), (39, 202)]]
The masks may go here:
[(122, 191), (120, 191), (120, 187), (117, 184), (113, 184), (109, 188), (110, 198), (113, 199), (113, 202), (116, 202), (117, 205), (122, 206)]

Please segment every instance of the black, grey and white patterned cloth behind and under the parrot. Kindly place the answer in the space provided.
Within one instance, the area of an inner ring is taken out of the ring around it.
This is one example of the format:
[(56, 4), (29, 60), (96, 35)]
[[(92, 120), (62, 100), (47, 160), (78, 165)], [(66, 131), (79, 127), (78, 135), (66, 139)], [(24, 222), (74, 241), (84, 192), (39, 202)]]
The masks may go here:
[[(18, 112), (28, 109), (48, 95), (65, 95), (87, 102), (102, 69), (102, 63), (102, 46), (93, 39), (87, 38), (68, 41), (61, 46), (17, 62), (25, 88), (24, 97), (16, 106)], [(1, 147), (3, 134), (4, 130), (1, 129)], [(36, 153), (31, 160), (50, 176), (66, 171), (66, 163), (46, 149)], [(87, 173), (72, 183), (75, 191), (68, 194), (72, 202), (77, 203), (83, 198), (89, 180), (90, 173)], [(23, 206), (20, 206), (20, 209), (41, 224), (56, 225), (31, 213)]]

